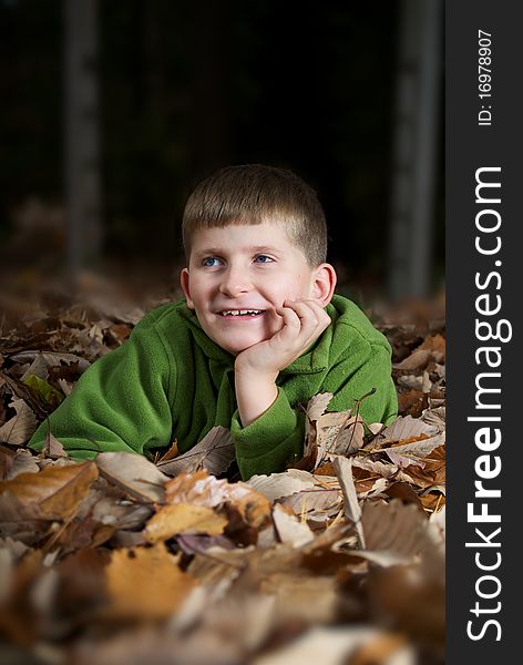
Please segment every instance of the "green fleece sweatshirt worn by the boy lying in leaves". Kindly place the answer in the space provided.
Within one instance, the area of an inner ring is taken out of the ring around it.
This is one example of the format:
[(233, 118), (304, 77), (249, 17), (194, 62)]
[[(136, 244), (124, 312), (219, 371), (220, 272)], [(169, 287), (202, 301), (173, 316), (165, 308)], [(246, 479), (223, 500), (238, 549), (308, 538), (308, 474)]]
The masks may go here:
[(332, 324), (311, 348), (284, 369), (278, 397), (257, 420), (242, 427), (234, 391), (234, 356), (202, 330), (185, 300), (147, 314), (120, 348), (96, 360), (71, 395), (30, 441), (40, 450), (49, 426), (72, 458), (101, 451), (151, 454), (177, 440), (185, 452), (214, 426), (230, 429), (244, 479), (285, 470), (300, 459), (305, 415), (298, 405), (332, 392), (329, 411), (360, 407), (367, 422), (389, 422), (397, 412), (390, 346), (350, 300), (335, 296)]

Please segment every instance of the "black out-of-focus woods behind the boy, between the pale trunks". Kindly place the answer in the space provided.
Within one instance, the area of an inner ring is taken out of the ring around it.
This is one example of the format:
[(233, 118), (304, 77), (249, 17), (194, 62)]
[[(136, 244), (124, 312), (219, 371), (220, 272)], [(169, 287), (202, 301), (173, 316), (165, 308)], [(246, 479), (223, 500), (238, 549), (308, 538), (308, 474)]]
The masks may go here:
[[(100, 2), (89, 63), (99, 81), (98, 260), (178, 265), (196, 182), (223, 165), (262, 162), (293, 168), (318, 191), (340, 284), (352, 296), (386, 291), (408, 4)], [(68, 264), (64, 31), (59, 0), (0, 0), (0, 243), (18, 275)], [(431, 289), (444, 270), (435, 155)]]

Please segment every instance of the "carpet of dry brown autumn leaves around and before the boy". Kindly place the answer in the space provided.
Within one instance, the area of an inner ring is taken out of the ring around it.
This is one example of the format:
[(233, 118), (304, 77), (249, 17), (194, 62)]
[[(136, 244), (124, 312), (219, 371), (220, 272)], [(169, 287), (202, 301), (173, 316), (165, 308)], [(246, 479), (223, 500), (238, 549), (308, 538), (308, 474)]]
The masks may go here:
[[(410, 316), (409, 316), (410, 315)], [(25, 448), (143, 316), (10, 303), (0, 330), (0, 633), (41, 663), (439, 664), (444, 321), (381, 317), (400, 417), (307, 405), (304, 459), (230, 482), (229, 432), (148, 461)], [(363, 397), (365, 399), (365, 397)]]

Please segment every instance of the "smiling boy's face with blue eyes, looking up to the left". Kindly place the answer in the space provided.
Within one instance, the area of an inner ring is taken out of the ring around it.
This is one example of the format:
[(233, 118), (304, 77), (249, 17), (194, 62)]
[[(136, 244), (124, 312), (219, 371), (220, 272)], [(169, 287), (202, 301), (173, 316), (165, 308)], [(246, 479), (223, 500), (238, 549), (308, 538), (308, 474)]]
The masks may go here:
[(283, 328), (276, 308), (285, 300), (327, 305), (320, 270), (308, 265), (281, 226), (264, 222), (195, 233), (181, 283), (207, 336), (237, 355)]

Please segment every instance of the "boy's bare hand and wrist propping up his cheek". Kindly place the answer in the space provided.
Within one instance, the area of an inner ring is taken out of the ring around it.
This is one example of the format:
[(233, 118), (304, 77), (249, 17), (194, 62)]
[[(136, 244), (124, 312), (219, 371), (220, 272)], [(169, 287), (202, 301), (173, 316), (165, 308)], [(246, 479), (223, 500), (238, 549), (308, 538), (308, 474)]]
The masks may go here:
[(286, 300), (276, 311), (284, 318), (281, 330), (236, 357), (236, 400), (244, 427), (275, 401), (279, 371), (306, 351), (330, 325), (329, 315), (316, 300)]

